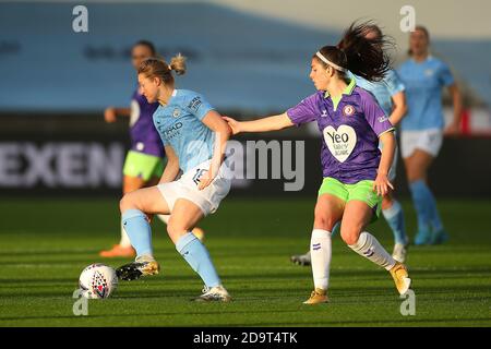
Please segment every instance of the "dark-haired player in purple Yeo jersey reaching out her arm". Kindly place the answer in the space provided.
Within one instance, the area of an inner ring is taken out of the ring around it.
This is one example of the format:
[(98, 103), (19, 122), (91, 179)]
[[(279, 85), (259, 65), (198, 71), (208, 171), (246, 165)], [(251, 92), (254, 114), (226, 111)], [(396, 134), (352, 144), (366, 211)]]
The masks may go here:
[[(358, 254), (388, 270), (400, 294), (410, 278), (366, 230), (380, 214), (382, 197), (393, 189), (387, 176), (395, 137), (388, 117), (367, 91), (357, 87), (348, 71), (369, 81), (383, 79), (390, 69), (384, 36), (368, 39), (367, 24), (351, 26), (343, 50), (324, 46), (312, 57), (310, 79), (318, 92), (286, 112), (254, 121), (226, 118), (233, 134), (266, 132), (316, 121), (323, 135), (321, 160), (324, 180), (319, 190), (311, 234), (314, 290), (306, 304), (327, 302), (331, 232), (342, 221), (343, 240)], [(379, 149), (379, 141), (383, 144)]]

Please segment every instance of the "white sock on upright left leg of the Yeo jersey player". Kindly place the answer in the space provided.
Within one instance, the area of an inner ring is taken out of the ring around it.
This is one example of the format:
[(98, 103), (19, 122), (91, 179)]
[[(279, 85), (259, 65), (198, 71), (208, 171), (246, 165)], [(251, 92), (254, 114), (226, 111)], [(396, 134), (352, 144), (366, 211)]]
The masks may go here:
[(313, 229), (310, 240), (310, 257), (315, 288), (327, 290), (331, 268), (331, 232)]

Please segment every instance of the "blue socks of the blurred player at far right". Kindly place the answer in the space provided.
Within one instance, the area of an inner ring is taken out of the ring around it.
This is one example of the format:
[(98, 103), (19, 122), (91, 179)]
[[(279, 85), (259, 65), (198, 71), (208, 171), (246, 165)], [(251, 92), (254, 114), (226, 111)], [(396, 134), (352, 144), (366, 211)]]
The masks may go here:
[(409, 184), (415, 203), (416, 213), (418, 215), (419, 231), (434, 231), (443, 229), (442, 220), (440, 219), (436, 209), (436, 202), (424, 181), (419, 180)]

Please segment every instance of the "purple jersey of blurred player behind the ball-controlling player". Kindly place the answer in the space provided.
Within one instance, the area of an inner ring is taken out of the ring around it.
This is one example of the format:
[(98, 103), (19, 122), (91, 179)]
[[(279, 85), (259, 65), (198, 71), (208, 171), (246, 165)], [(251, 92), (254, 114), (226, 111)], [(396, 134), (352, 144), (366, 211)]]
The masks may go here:
[(136, 89), (131, 99), (130, 137), (131, 149), (153, 156), (164, 157), (164, 145), (154, 127), (154, 111), (158, 103), (149, 104)]

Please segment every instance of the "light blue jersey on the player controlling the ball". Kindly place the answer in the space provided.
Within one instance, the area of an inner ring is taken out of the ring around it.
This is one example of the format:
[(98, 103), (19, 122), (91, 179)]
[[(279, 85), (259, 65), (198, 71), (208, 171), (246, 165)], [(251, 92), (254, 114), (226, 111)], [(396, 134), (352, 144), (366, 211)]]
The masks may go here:
[(154, 124), (161, 142), (176, 152), (183, 172), (213, 157), (215, 133), (202, 122), (212, 109), (202, 95), (175, 89), (168, 104), (160, 105), (154, 112)]

